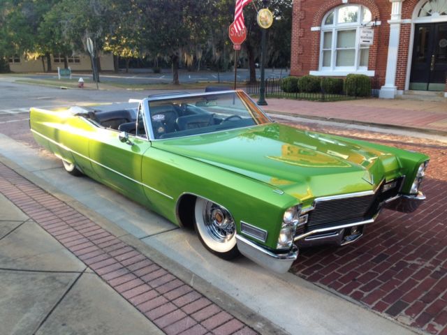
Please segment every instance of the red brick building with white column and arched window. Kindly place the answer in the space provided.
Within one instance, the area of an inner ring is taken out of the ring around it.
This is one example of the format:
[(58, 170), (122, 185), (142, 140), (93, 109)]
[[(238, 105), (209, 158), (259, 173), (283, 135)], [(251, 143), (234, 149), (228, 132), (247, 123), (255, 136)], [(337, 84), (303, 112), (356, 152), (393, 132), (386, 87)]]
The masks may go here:
[[(371, 45), (360, 42), (365, 28)], [(447, 97), (447, 0), (295, 0), (291, 75), (349, 73), (374, 77), (381, 98)]]

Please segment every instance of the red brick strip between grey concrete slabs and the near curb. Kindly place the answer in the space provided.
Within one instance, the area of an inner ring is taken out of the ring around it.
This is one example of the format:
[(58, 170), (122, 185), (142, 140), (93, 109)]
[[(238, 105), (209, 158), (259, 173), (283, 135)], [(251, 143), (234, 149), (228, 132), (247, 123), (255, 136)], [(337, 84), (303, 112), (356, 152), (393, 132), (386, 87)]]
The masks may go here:
[(135, 248), (3, 163), (0, 193), (166, 334), (257, 334)]

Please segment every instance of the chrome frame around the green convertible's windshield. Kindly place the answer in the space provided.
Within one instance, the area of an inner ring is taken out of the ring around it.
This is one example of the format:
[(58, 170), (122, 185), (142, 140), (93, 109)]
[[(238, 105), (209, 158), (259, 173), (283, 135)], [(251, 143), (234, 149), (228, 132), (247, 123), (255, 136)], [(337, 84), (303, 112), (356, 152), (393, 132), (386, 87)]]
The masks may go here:
[[(152, 103), (154, 101), (168, 101), (168, 100), (173, 100), (173, 99), (177, 99), (177, 98), (193, 98), (193, 97), (202, 97), (202, 96), (218, 96), (220, 94), (237, 94), (237, 93), (242, 93), (244, 94), (257, 108), (258, 111), (263, 114), (265, 116), (266, 119), (268, 119), (270, 122), (272, 122), (272, 119), (270, 119), (270, 117), (268, 117), (267, 114), (265, 114), (265, 112), (261, 109), (261, 107), (259, 107), (253, 99), (250, 98), (250, 96), (245, 93), (245, 91), (242, 91), (240, 89), (234, 91), (234, 90), (226, 90), (226, 91), (214, 91), (214, 92), (200, 92), (200, 93), (185, 93), (185, 94), (172, 94), (172, 95), (166, 95), (166, 96), (156, 96), (153, 98), (144, 98), (142, 99), (141, 103), (143, 105), (143, 110), (144, 110), (144, 119), (145, 119), (145, 126), (146, 126), (146, 133), (149, 135), (148, 139), (149, 141), (159, 141), (159, 140), (171, 140), (171, 139), (179, 139), (182, 137), (190, 137), (190, 136), (196, 136), (196, 135), (203, 135), (203, 134), (194, 134), (194, 135), (185, 135), (185, 136), (179, 136), (179, 137), (169, 137), (166, 139), (156, 139), (154, 136), (154, 129), (152, 128), (152, 118), (150, 117), (150, 107), (149, 107), (149, 103)], [(239, 97), (238, 97), (239, 98)], [(235, 128), (235, 129), (241, 129), (241, 128), (249, 128), (249, 127), (253, 127), (253, 126), (258, 126), (258, 124), (254, 124), (252, 126), (246, 126), (246, 127), (240, 127), (240, 128)], [(226, 129), (225, 131), (228, 131), (228, 129)], [(220, 132), (220, 131), (218, 131)], [(206, 134), (212, 134), (212, 133), (217, 133), (217, 132), (211, 132), (211, 133), (206, 133)]]

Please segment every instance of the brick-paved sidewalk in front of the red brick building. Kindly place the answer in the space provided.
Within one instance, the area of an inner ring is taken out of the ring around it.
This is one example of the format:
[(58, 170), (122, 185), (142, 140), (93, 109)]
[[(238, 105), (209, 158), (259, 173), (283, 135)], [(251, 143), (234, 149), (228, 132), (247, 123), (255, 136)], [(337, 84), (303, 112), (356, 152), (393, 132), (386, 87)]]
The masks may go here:
[(447, 135), (446, 102), (358, 99), (320, 103), (268, 98), (267, 103), (263, 109), (270, 113)]

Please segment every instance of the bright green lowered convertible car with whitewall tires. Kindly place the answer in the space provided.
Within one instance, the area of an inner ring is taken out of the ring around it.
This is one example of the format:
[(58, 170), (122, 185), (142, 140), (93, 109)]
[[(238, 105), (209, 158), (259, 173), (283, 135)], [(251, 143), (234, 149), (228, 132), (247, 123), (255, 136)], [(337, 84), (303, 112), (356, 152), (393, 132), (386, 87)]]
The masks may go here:
[(299, 247), (349, 244), (383, 207), (425, 200), (424, 154), (274, 123), (244, 91), (133, 103), (31, 108), (31, 131), (67, 172), (194, 227), (221, 258), (285, 272)]

